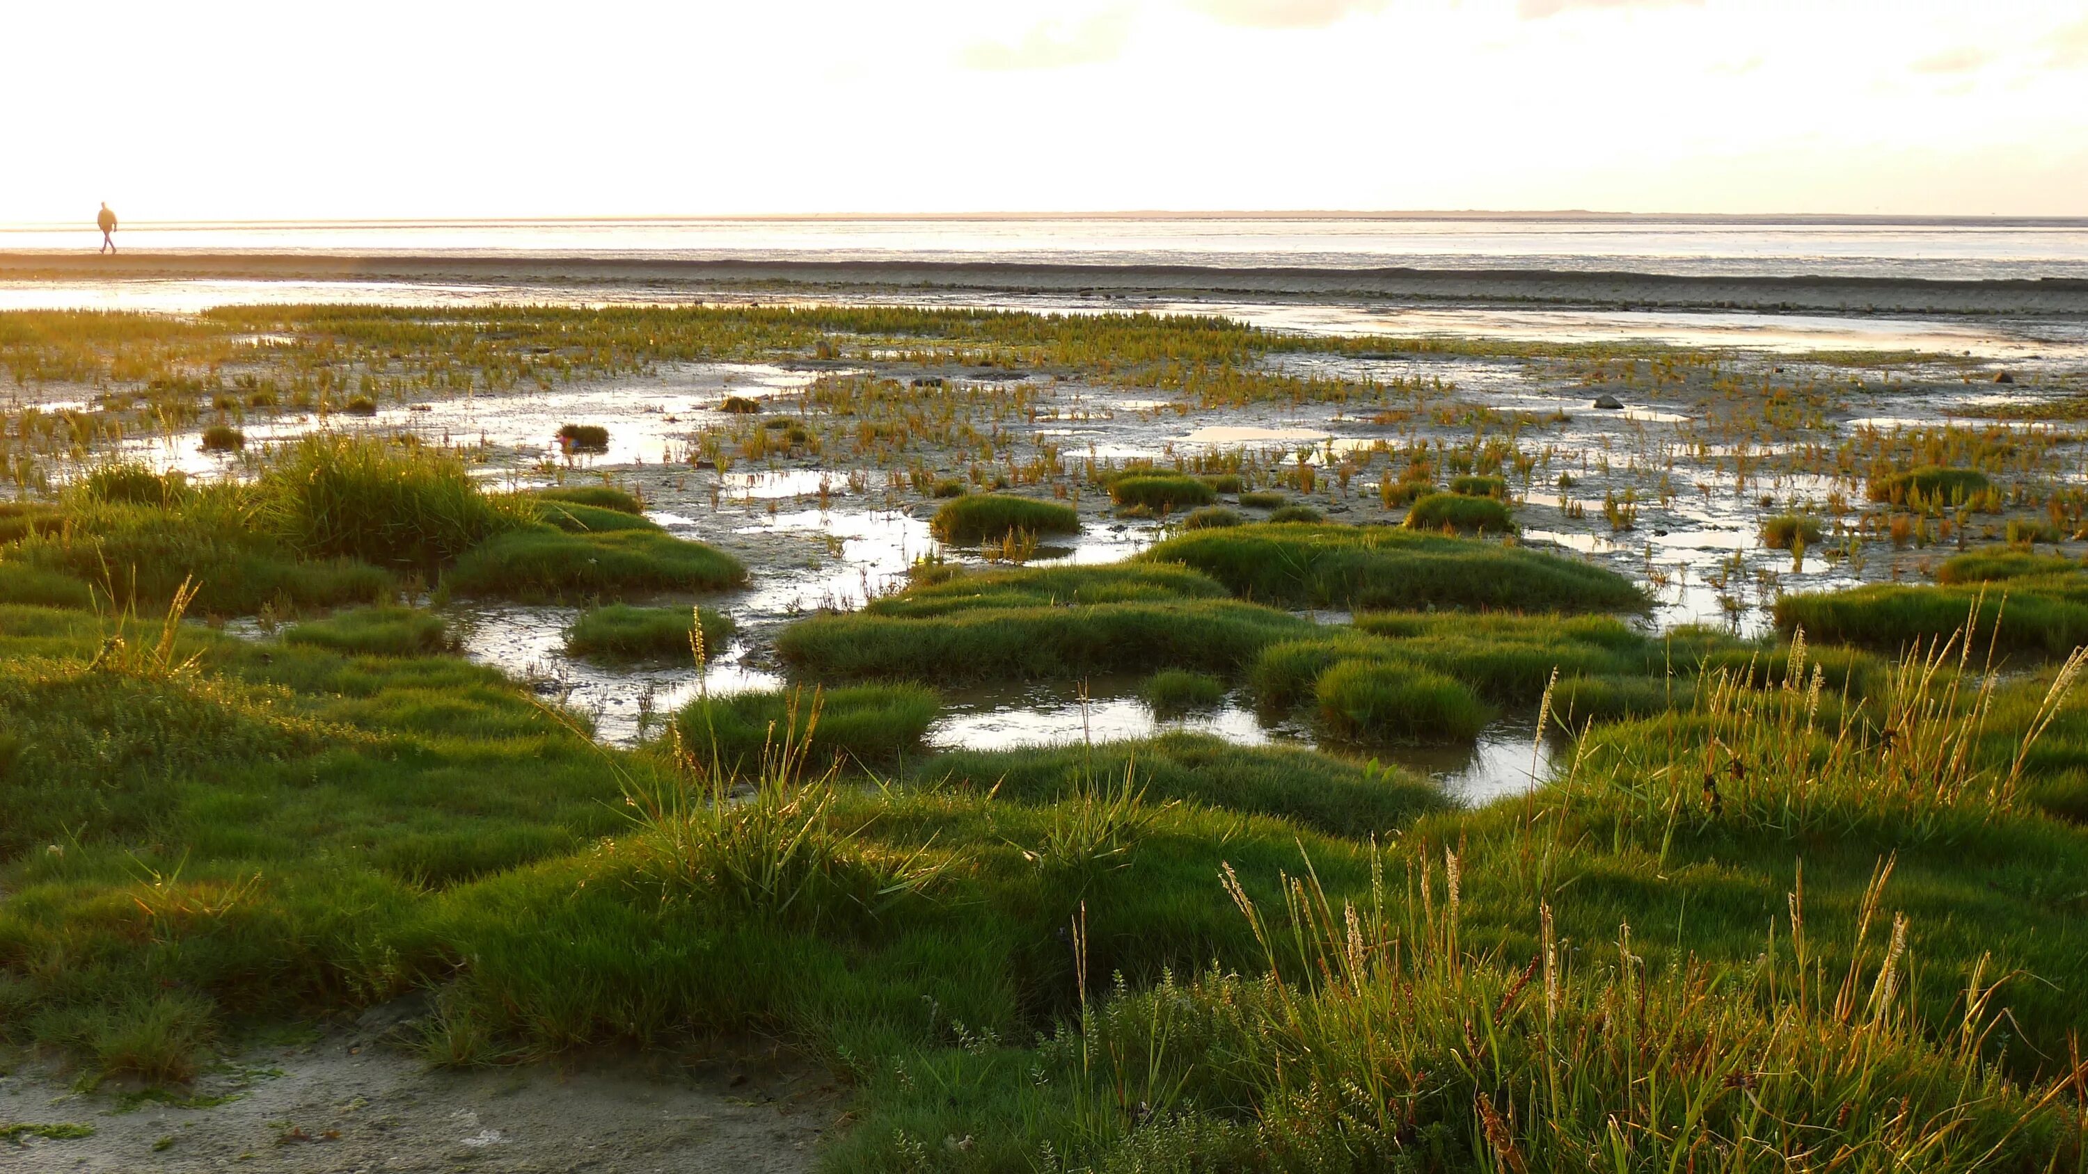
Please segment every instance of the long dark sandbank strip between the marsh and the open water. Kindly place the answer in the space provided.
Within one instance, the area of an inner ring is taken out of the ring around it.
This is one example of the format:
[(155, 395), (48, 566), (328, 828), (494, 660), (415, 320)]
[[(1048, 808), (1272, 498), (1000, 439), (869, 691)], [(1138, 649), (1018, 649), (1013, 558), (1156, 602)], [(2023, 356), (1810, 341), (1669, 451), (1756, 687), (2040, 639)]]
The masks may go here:
[(1328, 269), (1031, 265), (1004, 261), (770, 261), (587, 254), (0, 252), (0, 279), (317, 279), (658, 288), (996, 290), (1180, 298), (1363, 298), (1420, 304), (1783, 311), (1827, 315), (2088, 317), (2088, 279), (1672, 275), (1558, 269)]

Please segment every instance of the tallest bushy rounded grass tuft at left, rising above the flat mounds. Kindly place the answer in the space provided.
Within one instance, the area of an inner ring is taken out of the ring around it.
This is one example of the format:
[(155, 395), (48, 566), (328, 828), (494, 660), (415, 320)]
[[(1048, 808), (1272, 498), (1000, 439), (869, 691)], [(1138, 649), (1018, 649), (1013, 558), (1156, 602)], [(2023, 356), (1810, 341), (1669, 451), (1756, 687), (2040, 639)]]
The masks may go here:
[(372, 438), (307, 436), (255, 484), (267, 528), (307, 559), (432, 569), (528, 523), (455, 457)]

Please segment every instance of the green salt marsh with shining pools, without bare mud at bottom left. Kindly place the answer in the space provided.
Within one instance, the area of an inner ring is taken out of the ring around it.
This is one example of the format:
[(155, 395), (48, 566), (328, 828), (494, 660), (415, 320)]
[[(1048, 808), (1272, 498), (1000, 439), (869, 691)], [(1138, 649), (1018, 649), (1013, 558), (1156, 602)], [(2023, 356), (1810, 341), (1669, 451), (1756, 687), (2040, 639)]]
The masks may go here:
[(0, 369), (23, 1078), (403, 1005), (775, 1041), (837, 1170), (2080, 1161), (2088, 361), (735, 300)]

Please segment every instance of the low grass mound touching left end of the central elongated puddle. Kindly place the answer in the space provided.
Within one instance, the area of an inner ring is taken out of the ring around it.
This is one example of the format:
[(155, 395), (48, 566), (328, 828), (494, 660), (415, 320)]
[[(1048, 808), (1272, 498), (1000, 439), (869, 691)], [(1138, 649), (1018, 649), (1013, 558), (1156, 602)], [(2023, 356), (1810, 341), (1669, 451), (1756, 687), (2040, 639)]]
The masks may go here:
[(850, 759), (892, 763), (921, 749), (942, 711), (935, 690), (919, 684), (862, 684), (831, 690), (733, 692), (691, 701), (674, 715), (681, 747), (699, 765), (754, 774), (785, 747), (814, 763)]

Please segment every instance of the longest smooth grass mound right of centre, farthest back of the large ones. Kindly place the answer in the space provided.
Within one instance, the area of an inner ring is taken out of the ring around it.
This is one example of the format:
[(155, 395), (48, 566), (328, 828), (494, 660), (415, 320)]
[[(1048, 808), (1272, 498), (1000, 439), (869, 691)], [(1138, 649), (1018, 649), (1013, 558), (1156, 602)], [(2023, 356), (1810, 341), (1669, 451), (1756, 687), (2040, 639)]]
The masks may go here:
[[(1480, 498), (1466, 498), (1480, 500)], [(1184, 563), (1280, 607), (1637, 611), (1631, 580), (1558, 555), (1384, 525), (1236, 525), (1169, 538), (1142, 559)]]

